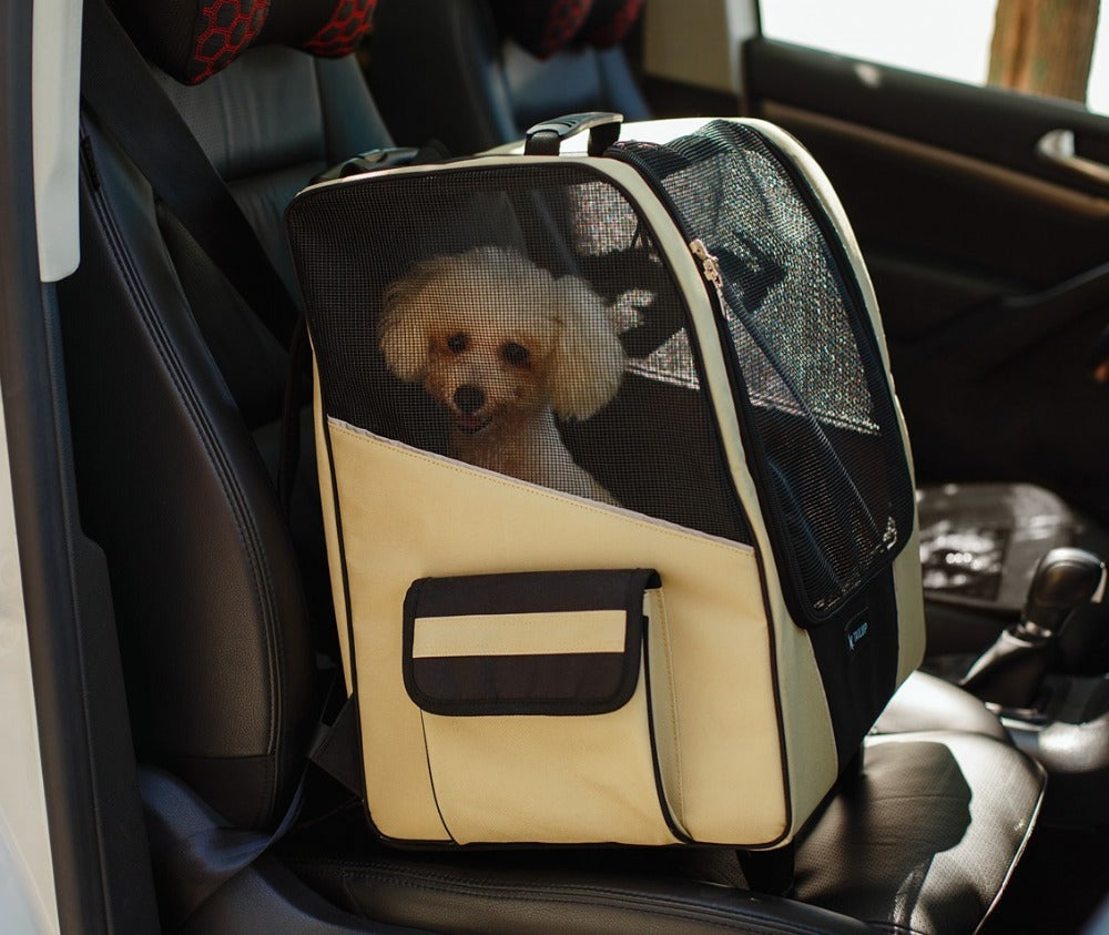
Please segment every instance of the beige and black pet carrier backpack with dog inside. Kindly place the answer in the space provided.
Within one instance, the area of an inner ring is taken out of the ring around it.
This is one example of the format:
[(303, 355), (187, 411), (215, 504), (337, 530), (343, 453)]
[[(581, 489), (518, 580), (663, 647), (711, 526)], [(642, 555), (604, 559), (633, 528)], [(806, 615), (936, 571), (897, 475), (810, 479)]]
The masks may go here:
[(784, 844), (920, 660), (905, 430), (826, 179), (760, 121), (617, 121), (287, 212), (387, 839)]

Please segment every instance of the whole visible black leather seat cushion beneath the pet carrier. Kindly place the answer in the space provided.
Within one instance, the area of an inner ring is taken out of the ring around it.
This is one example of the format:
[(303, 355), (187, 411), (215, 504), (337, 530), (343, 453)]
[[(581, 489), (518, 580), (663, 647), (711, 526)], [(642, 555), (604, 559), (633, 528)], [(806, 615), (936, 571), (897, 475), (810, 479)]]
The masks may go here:
[(862, 919), (974, 932), (1025, 847), (1041, 769), (1010, 744), (953, 731), (868, 738), (864, 761), (798, 843), (792, 900), (741, 888), (725, 848), (419, 855), (383, 847), (353, 814), (338, 839), (302, 835), (283, 860), (350, 913), (436, 931), (846, 932)]

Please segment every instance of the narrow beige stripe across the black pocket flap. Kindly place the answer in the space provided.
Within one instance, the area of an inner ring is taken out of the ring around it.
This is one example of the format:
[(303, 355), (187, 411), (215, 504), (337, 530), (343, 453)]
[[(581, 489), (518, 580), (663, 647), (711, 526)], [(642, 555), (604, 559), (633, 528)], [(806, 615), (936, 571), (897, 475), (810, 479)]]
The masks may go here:
[(624, 610), (417, 617), (413, 658), (623, 652)]

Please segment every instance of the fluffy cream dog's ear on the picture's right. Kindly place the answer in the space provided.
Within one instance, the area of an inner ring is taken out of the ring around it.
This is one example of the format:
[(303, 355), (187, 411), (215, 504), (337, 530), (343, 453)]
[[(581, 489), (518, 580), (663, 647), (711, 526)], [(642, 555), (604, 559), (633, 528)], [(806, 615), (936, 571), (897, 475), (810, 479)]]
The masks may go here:
[(612, 309), (597, 293), (572, 276), (557, 291), (562, 327), (548, 373), (551, 406), (563, 419), (588, 419), (617, 395), (627, 359)]

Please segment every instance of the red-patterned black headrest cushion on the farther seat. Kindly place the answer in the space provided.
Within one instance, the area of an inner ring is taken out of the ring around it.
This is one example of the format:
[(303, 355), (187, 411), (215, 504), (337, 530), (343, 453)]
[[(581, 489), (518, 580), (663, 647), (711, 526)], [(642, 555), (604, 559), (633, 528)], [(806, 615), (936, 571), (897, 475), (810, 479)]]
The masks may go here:
[(615, 45), (632, 28), (643, 0), (490, 0), (505, 35), (548, 59), (570, 44)]

